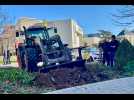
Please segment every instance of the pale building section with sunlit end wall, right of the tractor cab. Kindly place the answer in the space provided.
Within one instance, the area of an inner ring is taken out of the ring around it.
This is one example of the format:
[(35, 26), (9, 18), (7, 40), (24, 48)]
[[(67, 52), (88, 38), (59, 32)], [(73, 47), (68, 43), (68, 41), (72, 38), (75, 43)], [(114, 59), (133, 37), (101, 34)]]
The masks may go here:
[(48, 21), (48, 27), (56, 27), (61, 40), (69, 47), (75, 48), (83, 45), (83, 30), (72, 19)]

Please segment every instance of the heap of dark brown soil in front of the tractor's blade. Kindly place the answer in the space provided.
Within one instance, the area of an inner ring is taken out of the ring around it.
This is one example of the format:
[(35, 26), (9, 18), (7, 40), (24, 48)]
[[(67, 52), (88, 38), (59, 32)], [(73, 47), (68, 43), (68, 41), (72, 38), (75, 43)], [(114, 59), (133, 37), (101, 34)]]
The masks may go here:
[(79, 67), (60, 68), (48, 73), (40, 73), (34, 79), (38, 86), (62, 89), (86, 83), (95, 82), (93, 76), (87, 70)]

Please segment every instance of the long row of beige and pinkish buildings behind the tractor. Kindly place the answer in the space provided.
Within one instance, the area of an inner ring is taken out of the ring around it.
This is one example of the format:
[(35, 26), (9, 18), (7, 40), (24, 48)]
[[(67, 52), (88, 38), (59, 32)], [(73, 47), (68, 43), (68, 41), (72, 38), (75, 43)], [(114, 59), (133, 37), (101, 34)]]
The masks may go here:
[(16, 25), (6, 25), (0, 38), (0, 54), (4, 49), (9, 49), (11, 52), (15, 52), (16, 31), (23, 31), (23, 26), (28, 28), (32, 25), (42, 24), (47, 27), (56, 27), (61, 40), (65, 44), (69, 44), (69, 47), (79, 47), (83, 45), (83, 30), (72, 19), (68, 20), (56, 20), (56, 21), (42, 21), (35, 18), (20, 18)]

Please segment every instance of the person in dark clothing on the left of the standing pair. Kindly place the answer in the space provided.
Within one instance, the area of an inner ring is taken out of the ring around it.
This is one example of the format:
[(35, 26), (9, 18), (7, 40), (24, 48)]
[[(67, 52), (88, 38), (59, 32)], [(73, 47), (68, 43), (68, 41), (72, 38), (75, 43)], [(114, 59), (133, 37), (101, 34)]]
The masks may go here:
[(102, 49), (102, 63), (106, 64), (107, 66), (110, 65), (110, 58), (109, 58), (109, 52), (110, 52), (110, 43), (107, 39), (104, 39), (103, 43), (100, 44), (100, 47)]

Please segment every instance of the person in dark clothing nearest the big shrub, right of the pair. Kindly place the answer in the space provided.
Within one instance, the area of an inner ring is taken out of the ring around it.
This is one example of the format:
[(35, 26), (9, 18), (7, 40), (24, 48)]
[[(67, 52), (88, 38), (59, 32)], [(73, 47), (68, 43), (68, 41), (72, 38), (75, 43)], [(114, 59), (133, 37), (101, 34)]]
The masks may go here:
[(110, 66), (113, 67), (115, 62), (115, 53), (117, 51), (117, 48), (119, 46), (119, 41), (116, 40), (116, 36), (112, 35), (112, 40), (110, 42)]

